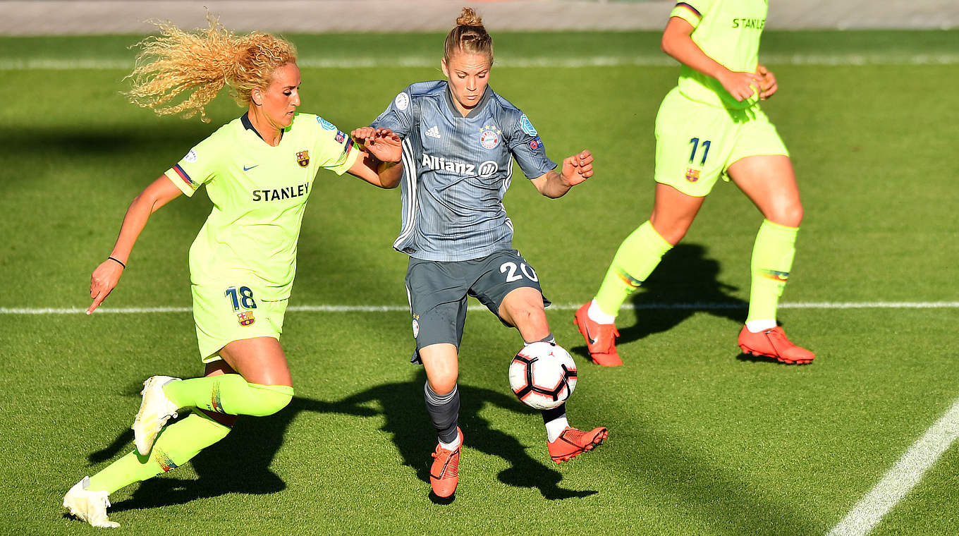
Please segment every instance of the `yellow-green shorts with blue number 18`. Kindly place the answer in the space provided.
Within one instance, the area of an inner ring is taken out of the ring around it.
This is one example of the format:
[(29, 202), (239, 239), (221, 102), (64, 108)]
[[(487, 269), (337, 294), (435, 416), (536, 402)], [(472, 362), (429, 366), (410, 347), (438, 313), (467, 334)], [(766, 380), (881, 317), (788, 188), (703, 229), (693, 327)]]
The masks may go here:
[(193, 319), (197, 324), (200, 361), (222, 359), (220, 350), (234, 340), (283, 333), (283, 316), (290, 300), (263, 301), (257, 289), (242, 281), (191, 285)]

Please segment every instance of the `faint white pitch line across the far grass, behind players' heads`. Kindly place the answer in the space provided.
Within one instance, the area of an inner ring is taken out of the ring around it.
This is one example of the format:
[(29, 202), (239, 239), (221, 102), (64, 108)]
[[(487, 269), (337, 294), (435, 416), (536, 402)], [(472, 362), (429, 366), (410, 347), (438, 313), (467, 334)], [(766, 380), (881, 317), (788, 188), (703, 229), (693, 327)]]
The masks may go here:
[[(762, 57), (767, 65), (954, 65), (959, 54), (769, 54)], [(405, 56), (400, 58), (299, 58), (300, 67), (380, 69), (384, 67), (435, 67), (436, 58)], [(591, 56), (584, 58), (497, 58), (499, 67), (654, 67), (678, 65), (666, 55), (655, 56)], [(0, 58), (0, 71), (32, 71), (49, 69), (69, 71), (82, 69), (131, 69), (133, 59), (105, 58)]]

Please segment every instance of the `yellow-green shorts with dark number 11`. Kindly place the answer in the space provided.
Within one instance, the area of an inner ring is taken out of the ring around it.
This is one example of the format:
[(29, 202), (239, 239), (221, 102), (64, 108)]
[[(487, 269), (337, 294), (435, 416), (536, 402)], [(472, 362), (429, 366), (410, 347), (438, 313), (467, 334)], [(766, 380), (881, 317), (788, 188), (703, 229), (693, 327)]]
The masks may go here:
[(727, 109), (691, 101), (675, 87), (656, 115), (656, 182), (696, 198), (746, 156), (789, 155), (769, 118), (754, 105)]

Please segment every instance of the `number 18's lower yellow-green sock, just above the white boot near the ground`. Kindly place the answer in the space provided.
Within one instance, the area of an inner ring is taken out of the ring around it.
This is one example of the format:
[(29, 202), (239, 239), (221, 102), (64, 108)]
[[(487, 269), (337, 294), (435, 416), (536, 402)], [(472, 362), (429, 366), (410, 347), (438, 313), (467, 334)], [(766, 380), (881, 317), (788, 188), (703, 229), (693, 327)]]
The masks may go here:
[(146, 480), (175, 469), (229, 433), (229, 427), (197, 411), (166, 427), (156, 437), (149, 455), (135, 450), (107, 465), (90, 477), (93, 491), (113, 493), (133, 482)]

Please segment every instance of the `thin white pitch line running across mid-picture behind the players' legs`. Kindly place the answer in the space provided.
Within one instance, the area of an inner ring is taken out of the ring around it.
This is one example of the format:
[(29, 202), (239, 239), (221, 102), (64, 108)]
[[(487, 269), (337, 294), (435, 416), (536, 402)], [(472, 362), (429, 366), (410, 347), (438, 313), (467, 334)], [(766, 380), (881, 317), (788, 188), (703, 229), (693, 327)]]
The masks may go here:
[[(550, 310), (575, 311), (582, 304), (554, 303)], [(717, 310), (745, 309), (745, 302), (640, 303), (624, 304), (634, 310)], [(862, 302), (797, 302), (781, 303), (780, 309), (955, 309), (959, 301), (862, 301)], [(482, 305), (471, 305), (470, 311), (483, 311)], [(189, 313), (189, 307), (101, 307), (95, 313), (137, 315), (145, 313)], [(406, 305), (294, 305), (287, 311), (306, 313), (393, 313), (409, 311)], [(80, 315), (82, 307), (0, 307), (0, 315)]]

